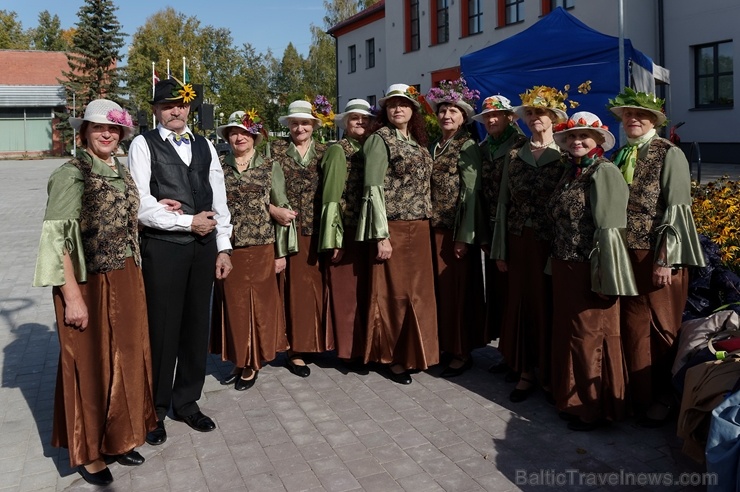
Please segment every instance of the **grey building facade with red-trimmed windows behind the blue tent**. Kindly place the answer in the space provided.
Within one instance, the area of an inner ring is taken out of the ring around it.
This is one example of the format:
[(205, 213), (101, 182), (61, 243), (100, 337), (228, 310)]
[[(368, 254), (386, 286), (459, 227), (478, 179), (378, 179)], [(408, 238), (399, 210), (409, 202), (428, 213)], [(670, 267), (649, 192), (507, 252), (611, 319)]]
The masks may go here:
[[(558, 7), (596, 31), (619, 35), (615, 0), (381, 0), (329, 30), (337, 45), (338, 105), (353, 97), (373, 102), (398, 82), (426, 92), (459, 76), (460, 57), (518, 34)], [(623, 0), (622, 19), (624, 37), (670, 71), (670, 85), (657, 92), (667, 99), (671, 121), (686, 122), (683, 141), (701, 142), (713, 162), (740, 151), (740, 135), (730, 124), (740, 121), (734, 107), (740, 3)], [(368, 64), (370, 39), (376, 51)], [(583, 48), (567, 39), (553, 42), (564, 50)]]

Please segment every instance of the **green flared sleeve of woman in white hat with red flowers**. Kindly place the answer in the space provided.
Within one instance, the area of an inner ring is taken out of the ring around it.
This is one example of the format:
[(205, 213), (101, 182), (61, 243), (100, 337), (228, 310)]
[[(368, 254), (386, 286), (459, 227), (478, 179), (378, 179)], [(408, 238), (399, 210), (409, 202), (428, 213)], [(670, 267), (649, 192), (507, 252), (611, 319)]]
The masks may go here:
[(637, 295), (627, 252), (627, 183), (619, 169), (607, 161), (599, 164), (591, 181), (591, 213), (596, 226), (591, 290), (604, 295)]

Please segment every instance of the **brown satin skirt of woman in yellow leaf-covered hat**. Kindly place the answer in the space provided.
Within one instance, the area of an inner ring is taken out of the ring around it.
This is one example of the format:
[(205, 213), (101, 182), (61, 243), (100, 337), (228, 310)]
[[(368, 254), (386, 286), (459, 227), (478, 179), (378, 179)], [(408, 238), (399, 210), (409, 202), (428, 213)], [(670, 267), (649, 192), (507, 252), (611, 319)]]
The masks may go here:
[(508, 301), (499, 351), (513, 370), (533, 371), (542, 386), (550, 384), (552, 350), (552, 280), (544, 273), (550, 254), (547, 241), (525, 227), (509, 234)]

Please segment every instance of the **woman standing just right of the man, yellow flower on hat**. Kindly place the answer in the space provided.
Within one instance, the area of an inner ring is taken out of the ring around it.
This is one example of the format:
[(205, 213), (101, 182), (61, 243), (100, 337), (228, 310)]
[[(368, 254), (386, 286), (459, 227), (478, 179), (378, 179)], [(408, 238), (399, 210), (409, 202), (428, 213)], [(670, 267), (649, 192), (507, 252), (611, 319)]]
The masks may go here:
[[(234, 364), (222, 384), (234, 383), (244, 391), (257, 381), (264, 361), (288, 349), (285, 314), (275, 274), (285, 269), (285, 226), (270, 218), (270, 197), (277, 205), (287, 198), (273, 190), (284, 189), (277, 162), (256, 150), (262, 141), (262, 121), (255, 110), (236, 111), (216, 129), (231, 152), (221, 157), (226, 200), (234, 232), (231, 244), (233, 270), (216, 280), (211, 324), (211, 352)], [(275, 228), (282, 241), (276, 244)]]

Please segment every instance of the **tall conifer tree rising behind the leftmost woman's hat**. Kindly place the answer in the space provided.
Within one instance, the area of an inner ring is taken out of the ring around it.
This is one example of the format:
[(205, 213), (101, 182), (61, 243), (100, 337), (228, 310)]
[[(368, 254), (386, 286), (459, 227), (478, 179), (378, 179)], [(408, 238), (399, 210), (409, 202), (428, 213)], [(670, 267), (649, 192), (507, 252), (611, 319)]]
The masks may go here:
[[(69, 71), (62, 72), (59, 82), (67, 93), (68, 111), (57, 113), (58, 128), (70, 146), (68, 118), (87, 103), (101, 97), (120, 101), (120, 75), (116, 65), (121, 60), (124, 34), (116, 18), (112, 0), (85, 0), (77, 12), (72, 46), (67, 52)], [(72, 107), (74, 101), (74, 107)]]

